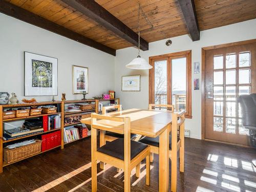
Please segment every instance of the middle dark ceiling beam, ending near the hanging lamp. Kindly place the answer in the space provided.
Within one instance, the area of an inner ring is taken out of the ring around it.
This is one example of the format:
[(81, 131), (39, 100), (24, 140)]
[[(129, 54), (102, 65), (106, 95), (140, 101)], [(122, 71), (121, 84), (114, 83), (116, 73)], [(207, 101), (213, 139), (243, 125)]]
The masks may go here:
[[(138, 47), (138, 34), (127, 27), (109, 11), (97, 4), (97, 2), (94, 0), (62, 0), (62, 2), (65, 2), (67, 5), (73, 7), (77, 11), (87, 15), (91, 19), (95, 20), (95, 22), (97, 22), (99, 25), (113, 31), (121, 38)], [(140, 48), (143, 51), (148, 50), (148, 42), (141, 37)]]

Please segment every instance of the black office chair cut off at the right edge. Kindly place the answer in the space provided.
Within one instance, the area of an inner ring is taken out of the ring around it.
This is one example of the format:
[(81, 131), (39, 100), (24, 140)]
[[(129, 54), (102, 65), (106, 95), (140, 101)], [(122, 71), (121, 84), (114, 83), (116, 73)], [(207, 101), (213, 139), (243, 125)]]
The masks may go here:
[[(242, 125), (249, 130), (250, 143), (256, 147), (256, 93), (240, 95), (239, 102), (242, 110)], [(252, 161), (256, 167), (256, 160)]]

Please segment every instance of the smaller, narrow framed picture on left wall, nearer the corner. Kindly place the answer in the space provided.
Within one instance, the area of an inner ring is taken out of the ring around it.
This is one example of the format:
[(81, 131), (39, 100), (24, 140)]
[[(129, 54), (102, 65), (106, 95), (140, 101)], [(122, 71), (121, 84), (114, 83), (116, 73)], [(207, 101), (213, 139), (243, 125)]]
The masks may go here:
[(80, 66), (73, 67), (73, 94), (88, 93), (88, 68)]

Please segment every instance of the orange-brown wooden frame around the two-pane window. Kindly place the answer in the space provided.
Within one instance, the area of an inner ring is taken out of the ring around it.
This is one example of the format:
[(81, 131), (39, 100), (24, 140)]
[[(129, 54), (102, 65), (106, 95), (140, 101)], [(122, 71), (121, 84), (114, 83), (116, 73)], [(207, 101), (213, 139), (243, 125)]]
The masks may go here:
[(186, 57), (186, 118), (192, 118), (192, 94), (191, 94), (191, 50), (181, 51), (176, 53), (169, 53), (164, 55), (152, 56), (149, 58), (149, 63), (153, 67), (148, 74), (148, 102), (149, 104), (155, 102), (155, 66), (154, 61), (156, 60), (165, 60), (167, 59), (167, 104), (172, 103), (172, 73), (170, 72), (172, 69), (172, 59)]

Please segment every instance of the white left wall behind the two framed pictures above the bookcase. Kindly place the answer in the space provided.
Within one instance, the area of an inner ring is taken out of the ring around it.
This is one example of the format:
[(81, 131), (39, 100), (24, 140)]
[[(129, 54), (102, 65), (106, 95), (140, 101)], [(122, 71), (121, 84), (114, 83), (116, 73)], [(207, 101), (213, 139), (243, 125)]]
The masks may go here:
[(114, 89), (114, 56), (2, 13), (0, 26), (0, 92), (15, 92), (19, 100), (24, 98), (24, 51), (58, 58), (55, 100), (61, 99), (61, 93), (66, 93), (67, 100), (82, 98), (82, 95), (73, 95), (72, 65), (89, 68), (87, 98)]

